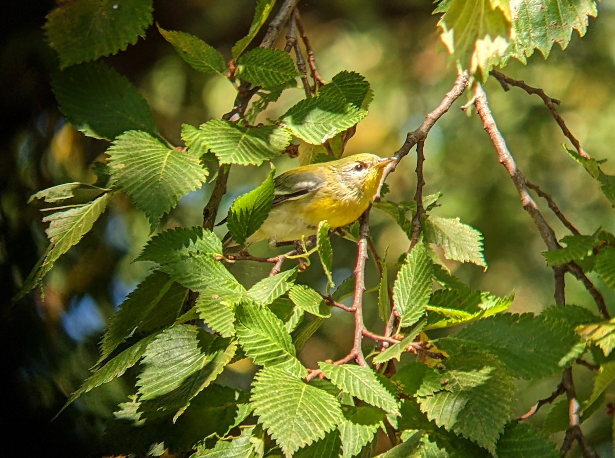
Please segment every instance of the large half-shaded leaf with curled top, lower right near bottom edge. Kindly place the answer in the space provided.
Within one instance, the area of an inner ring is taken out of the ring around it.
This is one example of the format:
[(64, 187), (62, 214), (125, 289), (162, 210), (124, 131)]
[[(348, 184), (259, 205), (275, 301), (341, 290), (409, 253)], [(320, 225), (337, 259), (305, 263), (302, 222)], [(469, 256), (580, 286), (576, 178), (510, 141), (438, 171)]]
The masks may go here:
[(447, 358), (445, 369), (430, 369), (418, 390), (421, 411), (447, 431), (492, 453), (515, 405), (514, 379), (496, 358), (466, 352)]

